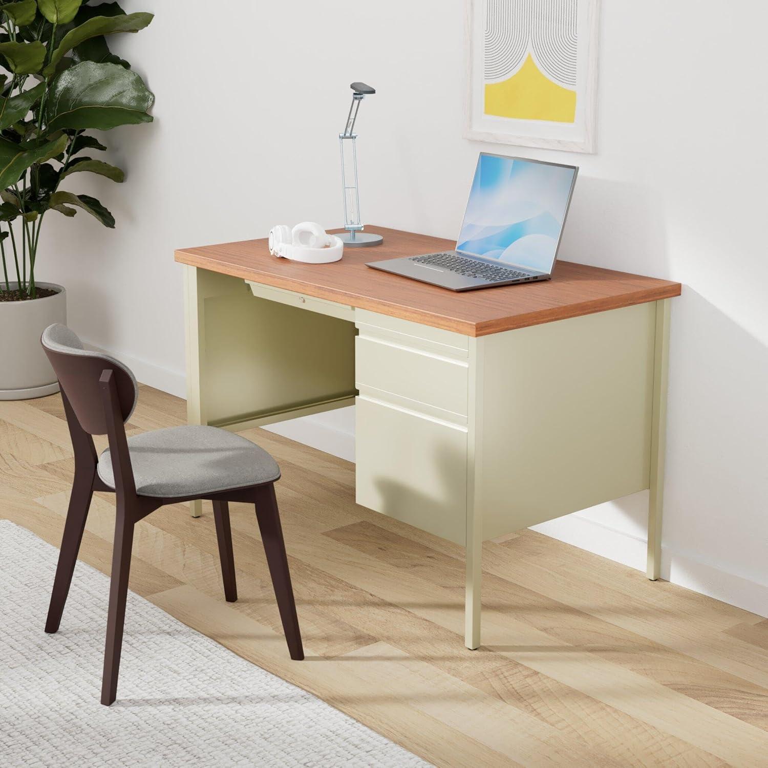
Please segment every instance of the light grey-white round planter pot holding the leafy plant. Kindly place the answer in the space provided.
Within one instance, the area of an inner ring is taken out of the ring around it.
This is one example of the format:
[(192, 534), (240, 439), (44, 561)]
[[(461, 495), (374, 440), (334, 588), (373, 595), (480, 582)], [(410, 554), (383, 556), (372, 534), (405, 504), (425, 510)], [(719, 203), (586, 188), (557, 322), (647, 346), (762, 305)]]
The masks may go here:
[[(16, 287), (17, 283), (11, 283), (12, 289)], [(38, 288), (52, 288), (58, 293), (45, 299), (0, 301), (0, 400), (26, 400), (58, 392), (40, 336), (51, 323), (67, 322), (67, 293), (55, 283), (38, 283)]]

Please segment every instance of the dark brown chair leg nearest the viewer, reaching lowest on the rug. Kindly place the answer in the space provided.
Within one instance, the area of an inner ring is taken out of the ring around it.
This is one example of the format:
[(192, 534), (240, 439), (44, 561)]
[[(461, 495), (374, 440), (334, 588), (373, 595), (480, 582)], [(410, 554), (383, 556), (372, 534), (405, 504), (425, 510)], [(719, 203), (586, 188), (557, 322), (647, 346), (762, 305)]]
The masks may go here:
[(128, 593), (128, 574), (131, 571), (131, 546), (134, 543), (134, 521), (130, 511), (121, 508), (114, 523), (114, 552), (112, 579), (109, 585), (109, 615), (107, 618), (107, 645), (104, 649), (104, 677), (101, 679), (101, 703), (109, 706), (118, 695), (120, 651), (123, 645), (125, 600)]

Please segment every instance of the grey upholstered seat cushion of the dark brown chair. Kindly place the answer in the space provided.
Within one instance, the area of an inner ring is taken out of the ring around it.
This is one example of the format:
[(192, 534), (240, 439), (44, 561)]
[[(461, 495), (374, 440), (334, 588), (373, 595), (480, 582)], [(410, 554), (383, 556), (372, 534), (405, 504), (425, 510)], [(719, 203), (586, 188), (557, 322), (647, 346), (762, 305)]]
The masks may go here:
[[(170, 427), (127, 439), (136, 492), (141, 496), (192, 496), (272, 482), (277, 462), (250, 440), (207, 426)], [(109, 449), (98, 476), (114, 488)]]

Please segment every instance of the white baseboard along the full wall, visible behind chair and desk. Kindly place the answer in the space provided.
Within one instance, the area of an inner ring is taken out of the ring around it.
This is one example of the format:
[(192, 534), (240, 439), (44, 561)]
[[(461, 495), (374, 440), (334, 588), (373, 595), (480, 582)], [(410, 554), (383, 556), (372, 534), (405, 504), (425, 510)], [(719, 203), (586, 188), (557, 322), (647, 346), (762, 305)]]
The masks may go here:
[[(87, 346), (90, 349), (99, 349), (93, 345)], [(129, 366), (140, 382), (181, 398), (186, 396), (184, 373), (114, 351), (109, 354)], [(351, 409), (303, 416), (300, 419), (270, 424), (263, 429), (353, 462), (354, 429), (349, 420), (349, 413), (345, 415), (345, 412), (349, 411)], [(610, 512), (608, 514), (610, 515)], [(608, 560), (637, 568), (638, 571), (645, 571), (644, 539), (585, 518), (580, 512), (536, 525), (533, 530), (574, 547), (594, 552)], [(768, 617), (768, 584), (730, 572), (722, 565), (701, 562), (690, 552), (676, 551), (663, 545), (661, 578)]]

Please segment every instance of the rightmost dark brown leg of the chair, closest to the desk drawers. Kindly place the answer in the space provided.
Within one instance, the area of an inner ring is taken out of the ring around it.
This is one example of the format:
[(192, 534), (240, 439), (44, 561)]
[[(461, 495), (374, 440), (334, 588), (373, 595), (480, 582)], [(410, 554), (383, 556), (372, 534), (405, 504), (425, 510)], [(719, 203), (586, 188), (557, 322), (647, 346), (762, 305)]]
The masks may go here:
[(277, 607), (280, 609), (280, 619), (283, 621), (283, 631), (286, 634), (290, 657), (300, 661), (304, 657), (304, 649), (301, 644), (299, 619), (296, 616), (296, 602), (293, 600), (288, 557), (283, 541), (283, 528), (280, 525), (280, 512), (277, 509), (273, 483), (256, 488), (256, 516), (259, 521), (266, 563), (270, 567), (272, 586), (277, 598)]

